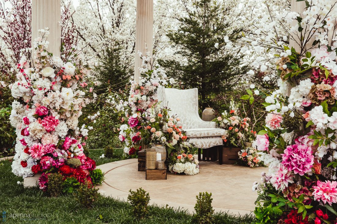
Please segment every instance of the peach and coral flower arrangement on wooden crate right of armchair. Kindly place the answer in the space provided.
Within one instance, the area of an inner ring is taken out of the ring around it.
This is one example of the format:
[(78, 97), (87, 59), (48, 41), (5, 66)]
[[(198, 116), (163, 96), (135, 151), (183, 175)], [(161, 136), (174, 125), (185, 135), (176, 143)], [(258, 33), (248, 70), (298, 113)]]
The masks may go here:
[(243, 146), (244, 142), (252, 142), (256, 137), (256, 132), (250, 130), (250, 118), (241, 118), (239, 110), (232, 100), (230, 103), (231, 110), (224, 111), (221, 116), (212, 121), (216, 122), (216, 126), (226, 130), (226, 134), (222, 136), (224, 145), (227, 146)]

